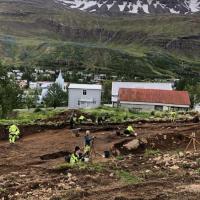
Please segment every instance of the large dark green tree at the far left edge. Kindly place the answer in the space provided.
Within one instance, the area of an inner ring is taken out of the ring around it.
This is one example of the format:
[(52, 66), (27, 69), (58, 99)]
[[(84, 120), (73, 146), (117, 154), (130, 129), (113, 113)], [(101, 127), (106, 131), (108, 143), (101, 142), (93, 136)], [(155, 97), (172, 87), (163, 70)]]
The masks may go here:
[(23, 91), (14, 80), (7, 77), (6, 68), (0, 63), (0, 117), (5, 118), (22, 105)]

